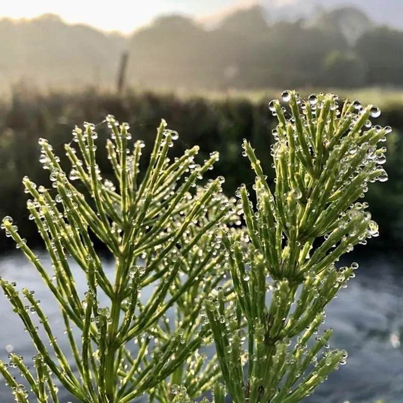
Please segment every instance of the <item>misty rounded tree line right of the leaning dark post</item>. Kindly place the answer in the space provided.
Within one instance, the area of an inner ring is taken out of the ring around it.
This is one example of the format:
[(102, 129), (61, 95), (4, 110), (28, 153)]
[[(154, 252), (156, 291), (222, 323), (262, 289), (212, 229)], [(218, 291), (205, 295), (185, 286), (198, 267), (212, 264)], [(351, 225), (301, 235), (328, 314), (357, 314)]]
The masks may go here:
[(164, 16), (135, 33), (128, 80), (169, 88), (401, 86), (403, 31), (344, 7), (295, 22), (238, 11), (212, 30)]

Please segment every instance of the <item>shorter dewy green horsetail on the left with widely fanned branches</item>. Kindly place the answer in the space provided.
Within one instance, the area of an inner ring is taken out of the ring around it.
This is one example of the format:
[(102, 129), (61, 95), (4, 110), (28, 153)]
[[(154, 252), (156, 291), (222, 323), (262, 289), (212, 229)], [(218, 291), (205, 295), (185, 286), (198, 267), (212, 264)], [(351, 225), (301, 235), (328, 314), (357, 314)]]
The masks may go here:
[[(16, 285), (1, 279), (0, 285), (38, 353), (36, 378), (15, 354), (10, 355), (10, 366), (20, 369), (40, 402), (49, 398), (58, 401), (54, 377), (79, 401), (88, 403), (124, 403), (144, 393), (170, 401), (167, 380), (172, 385), (183, 384), (189, 395), (196, 397), (209, 390), (220, 375), (215, 360), (204, 366), (206, 357), (198, 354), (201, 345), (211, 343), (211, 331), (206, 325), (202, 327), (198, 312), (201, 297), (225, 276), (228, 256), (216, 241), (216, 231), (239, 225), (235, 198), (222, 193), (223, 177), (204, 186), (197, 184), (213, 168), (218, 153), (212, 153), (201, 166), (194, 161), (198, 147), (170, 161), (168, 151), (178, 135), (166, 128), (165, 121), (158, 128), (149, 167), (139, 180), (144, 143), (137, 141), (130, 152), (128, 125), (119, 125), (113, 116), (105, 123), (111, 132), (106, 148), (117, 186), (101, 176), (94, 144), (96, 127), (90, 123), (73, 131), (82, 159), (72, 144), (65, 145), (72, 164), (69, 175), (60, 167), (51, 145), (39, 140), (40, 161), (50, 171), (53, 189), (36, 186), (28, 177), (23, 179), (26, 192), (32, 196), (27, 202), (30, 218), (49, 253), (55, 281), (20, 237), (13, 220), (6, 217), (2, 224), (60, 305), (78, 371), (74, 373), (69, 365), (33, 292), (23, 289), (23, 299), (27, 300), (23, 302)], [(85, 186), (86, 195), (74, 181)], [(105, 274), (91, 233), (114, 256), (114, 282)], [(88, 291), (84, 296), (78, 295), (68, 256), (86, 274)], [(150, 284), (155, 286), (154, 293), (142, 304), (141, 290)], [(99, 305), (100, 290), (110, 299), (109, 306)], [(171, 307), (176, 308), (174, 325), (167, 317)], [(51, 351), (39, 337), (32, 313), (39, 316)], [(82, 332), (81, 344), (74, 338), (72, 324)], [(132, 357), (128, 347), (133, 340), (138, 345), (137, 357)], [(51, 358), (53, 354), (56, 359)], [(195, 364), (191, 357), (195, 357)], [(13, 380), (7, 366), (1, 363), (0, 372), (16, 400), (29, 401), (28, 391)]]

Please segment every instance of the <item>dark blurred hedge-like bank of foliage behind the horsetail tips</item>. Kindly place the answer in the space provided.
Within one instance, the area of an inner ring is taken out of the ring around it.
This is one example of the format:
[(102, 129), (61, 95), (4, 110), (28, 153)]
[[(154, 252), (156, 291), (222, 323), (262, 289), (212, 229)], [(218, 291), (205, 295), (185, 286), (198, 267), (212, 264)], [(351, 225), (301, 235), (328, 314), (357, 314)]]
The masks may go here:
[[(268, 101), (268, 99), (267, 99)], [(220, 152), (220, 161), (214, 171), (208, 171), (207, 179), (223, 175), (224, 190), (233, 194), (245, 183), (251, 188), (254, 176), (247, 161), (240, 158), (242, 139), (250, 141), (261, 160), (268, 182), (273, 184), (270, 146), (273, 144), (274, 117), (267, 109), (267, 102), (254, 104), (247, 100), (217, 100), (204, 98), (179, 99), (172, 95), (153, 93), (130, 93), (118, 97), (107, 93), (54, 93), (41, 95), (16, 91), (11, 104), (0, 104), (0, 216), (11, 215), (21, 231), (31, 242), (39, 242), (35, 227), (28, 220), (26, 197), (22, 195), (21, 180), (29, 173), (37, 183), (49, 183), (46, 171), (38, 161), (40, 137), (47, 138), (55, 154), (66, 161), (63, 144), (71, 140), (71, 131), (77, 122), (101, 122), (109, 112), (132, 127), (133, 141), (143, 139), (146, 151), (150, 151), (155, 136), (155, 127), (164, 117), (175, 127), (180, 138), (173, 155), (194, 145), (200, 146), (198, 162), (209, 158), (211, 151)], [(386, 183), (373, 183), (366, 195), (371, 206), (373, 219), (381, 228), (381, 237), (372, 242), (372, 247), (398, 245), (401, 241), (400, 227), (403, 223), (403, 120), (401, 106), (390, 105), (382, 109), (377, 124), (392, 126), (394, 132), (388, 136), (388, 160), (385, 169), (389, 174)], [(375, 122), (374, 122), (375, 123)], [(99, 144), (106, 138), (105, 130), (98, 130)], [(99, 164), (105, 177), (112, 176), (106, 150), (99, 147)], [(142, 161), (146, 164), (146, 158)], [(144, 166), (141, 167), (144, 170)], [(382, 187), (380, 187), (380, 185)], [(49, 187), (50, 183), (49, 183)], [(11, 243), (1, 235), (0, 248), (9, 249)], [(384, 244), (381, 244), (383, 242)]]

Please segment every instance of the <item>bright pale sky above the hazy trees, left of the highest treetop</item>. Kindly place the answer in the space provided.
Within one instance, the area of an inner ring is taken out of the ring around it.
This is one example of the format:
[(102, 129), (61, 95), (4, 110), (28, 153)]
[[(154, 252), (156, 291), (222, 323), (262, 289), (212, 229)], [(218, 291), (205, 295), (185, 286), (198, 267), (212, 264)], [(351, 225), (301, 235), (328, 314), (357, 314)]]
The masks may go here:
[(0, 18), (34, 18), (52, 13), (69, 23), (130, 33), (161, 14), (201, 17), (255, 0), (0, 0), (0, 3)]

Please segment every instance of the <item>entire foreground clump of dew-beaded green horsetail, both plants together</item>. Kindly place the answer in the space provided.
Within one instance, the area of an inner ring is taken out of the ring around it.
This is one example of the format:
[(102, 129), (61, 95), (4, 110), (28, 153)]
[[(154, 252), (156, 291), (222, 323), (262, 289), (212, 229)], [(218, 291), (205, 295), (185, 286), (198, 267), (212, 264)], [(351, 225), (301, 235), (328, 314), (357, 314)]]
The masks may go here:
[[(279, 101), (269, 105), (279, 123), (271, 147), (275, 183), (267, 182), (245, 140), (243, 156), (256, 178), (252, 189), (237, 190), (238, 200), (223, 194), (223, 177), (198, 184), (217, 153), (203, 165), (195, 162), (198, 147), (170, 160), (178, 135), (164, 121), (149, 166), (140, 172), (144, 144), (133, 145), (128, 125), (106, 118), (114, 181), (98, 168), (95, 125), (74, 129), (78, 150), (65, 145), (70, 174), (40, 139), (52, 189), (28, 177), (23, 183), (53, 277), (11, 217), (2, 228), (59, 304), (71, 351), (62, 351), (34, 293), (23, 289), (21, 296), (15, 283), (0, 279), (37, 351), (33, 371), (16, 354), (9, 364), (0, 362), (15, 401), (58, 402), (61, 384), (85, 403), (128, 403), (144, 394), (150, 401), (191, 402), (208, 391), (216, 403), (227, 394), (234, 403), (295, 403), (346, 363), (345, 351), (329, 350), (331, 329), (318, 332), (326, 305), (358, 267), (339, 267), (340, 257), (378, 235), (368, 205), (358, 200), (369, 182), (387, 180), (381, 167), (386, 149), (377, 145), (390, 127), (372, 126), (370, 119), (380, 114), (375, 106), (341, 104), (334, 94), (312, 94), (303, 102), (285, 91), (282, 98), (288, 109)], [(112, 281), (94, 236), (115, 259)], [(72, 259), (87, 278), (84, 296)], [(148, 285), (153, 293), (141, 302)], [(109, 305), (100, 305), (100, 292)], [(207, 360), (199, 349), (213, 343), (216, 354)]]

